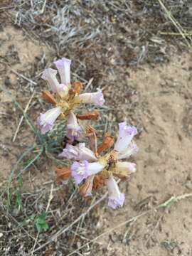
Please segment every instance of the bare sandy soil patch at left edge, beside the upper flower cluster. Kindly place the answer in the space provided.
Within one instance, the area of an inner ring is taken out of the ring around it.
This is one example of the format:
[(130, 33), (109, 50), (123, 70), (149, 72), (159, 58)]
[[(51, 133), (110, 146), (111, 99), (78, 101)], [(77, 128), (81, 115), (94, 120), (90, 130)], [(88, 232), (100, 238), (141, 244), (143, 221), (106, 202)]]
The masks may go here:
[[(6, 29), (0, 32), (0, 42), (0, 58), (2, 60), (0, 61), (1, 87), (11, 92), (12, 97), (15, 97), (24, 109), (34, 85), (31, 83), (23, 85), (25, 79), (21, 78), (21, 72), (23, 68), (26, 71), (28, 70), (29, 73), (33, 72), (34, 63), (38, 61), (38, 58), (42, 58), (43, 54), (47, 54), (48, 49), (45, 46), (41, 46), (37, 41), (31, 41), (30, 38), (26, 38), (26, 33), (12, 26), (6, 26)], [(31, 109), (31, 112), (35, 114), (34, 108), (33, 102), (28, 111), (30, 112)], [(17, 156), (22, 153), (29, 143), (33, 143), (30, 129), (23, 123), (21, 124), (21, 133), (19, 132), (16, 141), (12, 142), (21, 118), (21, 112), (18, 113), (17, 111), (16, 106), (12, 103), (11, 96), (1, 90), (0, 176), (3, 178), (7, 178), (9, 175), (11, 166), (16, 161)]]

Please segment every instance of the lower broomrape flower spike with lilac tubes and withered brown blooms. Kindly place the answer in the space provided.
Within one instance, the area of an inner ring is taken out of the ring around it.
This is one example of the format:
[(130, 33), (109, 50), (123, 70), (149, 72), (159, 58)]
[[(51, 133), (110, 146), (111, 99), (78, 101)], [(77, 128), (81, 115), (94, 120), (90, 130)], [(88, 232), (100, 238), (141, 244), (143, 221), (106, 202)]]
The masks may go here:
[[(102, 155), (102, 152), (110, 149), (114, 142), (114, 138), (109, 134), (98, 147), (100, 150), (95, 153), (88, 149), (84, 143), (76, 146), (68, 144), (63, 149), (60, 157), (75, 160), (71, 166), (71, 176), (75, 183), (80, 186), (82, 196), (91, 196), (92, 188), (98, 188), (105, 184), (109, 191), (108, 206), (113, 209), (123, 206), (124, 194), (119, 191), (115, 177), (128, 178), (130, 174), (136, 171), (136, 164), (121, 161), (121, 159), (137, 153), (137, 145), (132, 142), (136, 134), (137, 129), (135, 127), (122, 122), (119, 124), (119, 134), (114, 149), (104, 155)], [(95, 144), (97, 144), (97, 141), (95, 141)], [(92, 148), (94, 148), (94, 145), (92, 145)]]

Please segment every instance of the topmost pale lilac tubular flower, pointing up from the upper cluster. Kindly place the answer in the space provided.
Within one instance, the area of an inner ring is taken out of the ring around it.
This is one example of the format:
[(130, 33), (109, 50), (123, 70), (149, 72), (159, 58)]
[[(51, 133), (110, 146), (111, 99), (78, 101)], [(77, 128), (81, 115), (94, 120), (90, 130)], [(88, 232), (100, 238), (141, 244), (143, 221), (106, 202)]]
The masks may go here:
[(54, 61), (55, 66), (58, 69), (60, 80), (64, 85), (70, 85), (70, 63), (68, 58), (61, 58)]

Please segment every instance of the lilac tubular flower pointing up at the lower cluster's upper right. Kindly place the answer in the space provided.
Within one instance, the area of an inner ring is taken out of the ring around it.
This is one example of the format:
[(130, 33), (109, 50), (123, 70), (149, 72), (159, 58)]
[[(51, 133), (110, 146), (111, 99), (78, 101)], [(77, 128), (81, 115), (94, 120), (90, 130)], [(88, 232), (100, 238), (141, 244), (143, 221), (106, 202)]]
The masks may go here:
[(119, 124), (119, 134), (117, 142), (114, 144), (114, 150), (121, 153), (127, 149), (134, 135), (137, 134), (137, 128), (127, 125), (126, 122)]

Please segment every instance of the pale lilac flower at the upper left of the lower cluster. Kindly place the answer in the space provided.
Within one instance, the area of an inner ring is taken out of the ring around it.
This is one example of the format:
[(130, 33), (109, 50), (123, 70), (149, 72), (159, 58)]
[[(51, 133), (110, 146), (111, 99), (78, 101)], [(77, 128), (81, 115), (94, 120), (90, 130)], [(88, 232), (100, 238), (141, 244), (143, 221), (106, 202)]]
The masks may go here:
[(85, 146), (85, 143), (79, 143), (77, 146), (67, 144), (59, 156), (65, 157), (69, 160), (74, 159), (75, 161), (97, 161), (97, 157), (90, 149)]

